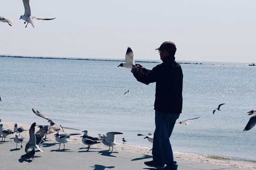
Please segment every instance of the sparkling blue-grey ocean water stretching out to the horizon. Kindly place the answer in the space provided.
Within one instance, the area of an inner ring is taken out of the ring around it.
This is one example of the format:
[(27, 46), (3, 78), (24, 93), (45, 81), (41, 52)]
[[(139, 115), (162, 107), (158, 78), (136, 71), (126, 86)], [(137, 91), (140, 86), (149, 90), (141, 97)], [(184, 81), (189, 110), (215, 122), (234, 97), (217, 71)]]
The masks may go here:
[[(159, 63), (137, 62), (146, 68)], [(0, 119), (56, 124), (89, 135), (117, 131), (117, 142), (152, 147), (138, 133), (153, 133), (155, 83), (137, 82), (119, 61), (0, 57)], [(174, 151), (256, 160), (256, 127), (243, 132), (256, 108), (256, 67), (245, 63), (181, 64), (183, 110), (170, 138)], [(126, 91), (130, 91), (124, 95)], [(213, 109), (219, 104), (221, 111)], [(14, 125), (13, 125), (14, 126)]]

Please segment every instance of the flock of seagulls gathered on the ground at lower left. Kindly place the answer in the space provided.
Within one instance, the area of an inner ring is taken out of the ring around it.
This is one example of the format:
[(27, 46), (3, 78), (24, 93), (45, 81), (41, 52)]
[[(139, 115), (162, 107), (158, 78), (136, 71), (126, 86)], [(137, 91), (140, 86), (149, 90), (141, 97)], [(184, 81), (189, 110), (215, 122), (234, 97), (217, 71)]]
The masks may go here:
[[(38, 110), (34, 110), (32, 108), (32, 111), (38, 115), (39, 117), (43, 117), (44, 119), (47, 119), (48, 122), (50, 123), (50, 125), (46, 125), (46, 126), (38, 126), (39, 130), (37, 132), (35, 132), (35, 127), (36, 127), (36, 122), (34, 122), (33, 124), (31, 124), (30, 128), (29, 128), (29, 141), (27, 142), (26, 146), (25, 146), (25, 154), (21, 155), (21, 158), (25, 158), (25, 159), (33, 159), (35, 153), (36, 153), (36, 149), (40, 150), (40, 152), (44, 152), (41, 148), (40, 148), (40, 144), (43, 143), (46, 140), (46, 134), (50, 134), (52, 132), (56, 132), (54, 134), (55, 136), (55, 140), (59, 143), (59, 148), (61, 148), (61, 144), (63, 144), (63, 150), (65, 150), (65, 144), (71, 140), (70, 137), (73, 135), (81, 135), (79, 133), (70, 133), (70, 134), (60, 134), (59, 131), (63, 131), (63, 128), (61, 127), (61, 125), (57, 125), (55, 124), (51, 119), (49, 119), (48, 117), (45, 117), (42, 113), (40, 113)], [(0, 119), (1, 121), (1, 119)], [(49, 131), (50, 130), (50, 131)], [(19, 127), (18, 124), (14, 125), (13, 130), (9, 130), (9, 129), (5, 129), (3, 128), (3, 125), (0, 124), (0, 135), (2, 137), (2, 140), (4, 138), (5, 141), (5, 137), (7, 137), (10, 134), (13, 133), (17, 133), (15, 135), (15, 138), (13, 139), (13, 141), (16, 143), (16, 149), (18, 147), (18, 144), (21, 143), (20, 148), (22, 147), (22, 142), (24, 142), (24, 138), (20, 137), (20, 133), (26, 131), (24, 128)], [(88, 135), (88, 130), (84, 130), (83, 131), (84, 134), (82, 137), (82, 143), (87, 145), (87, 151), (90, 149), (90, 146), (94, 145), (94, 144), (100, 144), (103, 143), (104, 145), (108, 146), (108, 152), (110, 151), (110, 147), (112, 147), (112, 150), (110, 152), (113, 151), (113, 146), (119, 145), (121, 143), (117, 143), (115, 140), (115, 135), (119, 135), (119, 134), (123, 134), (121, 132), (108, 132), (106, 133), (106, 135), (102, 135), (98, 134), (99, 137), (92, 137)], [(19, 133), (19, 135), (18, 135)], [(43, 138), (45, 137), (45, 138)], [(126, 140), (123, 138), (123, 142), (126, 142)], [(31, 149), (31, 150), (29, 150)]]

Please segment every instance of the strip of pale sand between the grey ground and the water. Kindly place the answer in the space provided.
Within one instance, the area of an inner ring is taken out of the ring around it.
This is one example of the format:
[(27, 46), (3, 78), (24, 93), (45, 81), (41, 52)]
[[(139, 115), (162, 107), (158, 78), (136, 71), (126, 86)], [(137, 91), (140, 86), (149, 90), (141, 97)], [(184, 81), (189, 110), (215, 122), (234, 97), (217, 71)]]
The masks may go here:
[[(15, 123), (17, 123), (17, 122), (3, 122), (3, 121), (1, 122), (1, 124), (3, 124), (3, 128), (10, 129), (10, 130), (13, 130)], [(17, 123), (17, 124), (18, 124), (18, 126), (22, 126), (24, 129), (27, 130), (27, 131), (20, 133), (20, 137), (25, 138), (25, 140), (24, 140), (25, 142), (23, 142), (23, 148), (20, 149), (20, 151), (19, 151), (20, 152), (19, 155), (23, 155), (23, 154), (25, 154), (25, 152), (24, 152), (25, 144), (29, 140), (29, 131), (28, 130), (30, 128), (30, 125), (22, 124), (22, 123)], [(38, 129), (39, 128), (37, 128), (37, 126), (36, 126), (36, 131)], [(69, 132), (67, 132), (68, 129), (64, 128), (64, 130), (65, 130), (65, 132), (60, 132), (60, 133), (69, 133)], [(16, 148), (16, 143), (13, 141), (15, 134), (8, 135), (5, 139), (5, 142), (0, 141), (0, 144), (1, 144), (0, 149), (1, 150), (7, 143), (13, 145), (13, 149)], [(45, 143), (54, 144), (54, 146), (51, 146), (51, 147), (52, 147), (52, 149), (57, 150), (59, 145), (55, 141), (54, 134), (55, 133), (47, 135), (47, 139), (49, 141), (46, 141)], [(81, 132), (81, 135), (82, 135), (82, 132)], [(79, 145), (79, 146), (86, 148), (87, 146), (85, 146), (81, 141), (81, 138), (80, 138), (81, 135), (72, 136), (70, 138), (70, 140), (72, 140), (72, 141), (65, 144), (65, 149), (68, 149), (70, 145)], [(95, 135), (95, 134), (89, 133), (89, 135), (97, 137), (97, 135)], [(18, 148), (20, 148), (20, 144), (18, 144)], [(103, 144), (96, 144), (96, 145), (91, 146), (91, 148), (98, 148), (100, 150), (108, 150), (108, 147)], [(61, 149), (63, 149), (63, 144), (61, 144)], [(85, 151), (86, 151), (86, 149), (85, 149)], [(141, 154), (141, 155), (151, 155), (150, 148), (130, 146), (128, 144), (120, 144), (118, 146), (115, 146), (113, 152), (129, 152), (129, 153), (135, 153), (135, 154)], [(37, 155), (37, 152), (36, 152), (36, 155)], [(178, 163), (179, 163), (179, 161), (193, 161), (193, 162), (209, 163), (209, 164), (215, 164), (215, 165), (230, 166), (232, 168), (247, 168), (247, 169), (254, 169), (254, 170), (256, 169), (256, 163), (253, 161), (233, 160), (233, 159), (224, 158), (224, 157), (196, 155), (196, 154), (188, 154), (188, 153), (182, 153), (182, 152), (174, 152), (174, 156), (175, 156), (175, 160)]]

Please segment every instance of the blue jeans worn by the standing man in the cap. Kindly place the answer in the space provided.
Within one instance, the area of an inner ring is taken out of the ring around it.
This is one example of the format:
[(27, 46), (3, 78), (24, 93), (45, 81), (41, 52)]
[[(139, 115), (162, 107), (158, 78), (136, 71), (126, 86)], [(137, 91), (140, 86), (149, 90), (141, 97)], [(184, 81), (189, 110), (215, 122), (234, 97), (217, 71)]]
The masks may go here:
[(178, 168), (178, 164), (173, 160), (173, 150), (170, 137), (174, 124), (180, 114), (163, 113), (155, 110), (155, 132), (153, 139), (153, 161), (155, 164), (168, 168)]

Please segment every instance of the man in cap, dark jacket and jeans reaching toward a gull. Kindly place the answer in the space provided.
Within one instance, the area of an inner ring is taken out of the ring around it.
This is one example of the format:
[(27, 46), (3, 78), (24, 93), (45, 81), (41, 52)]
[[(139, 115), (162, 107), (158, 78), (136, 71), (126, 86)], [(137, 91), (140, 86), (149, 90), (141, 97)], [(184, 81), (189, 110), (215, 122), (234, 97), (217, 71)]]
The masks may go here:
[(143, 68), (140, 64), (133, 65), (131, 69), (137, 81), (147, 85), (156, 82), (153, 161), (144, 163), (158, 169), (177, 170), (178, 164), (173, 160), (169, 138), (182, 113), (183, 73), (180, 64), (175, 62), (176, 45), (173, 42), (164, 42), (155, 50), (159, 50), (162, 64), (152, 70)]

